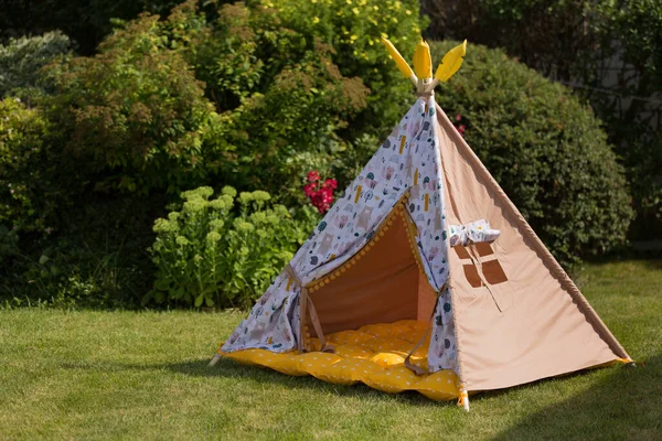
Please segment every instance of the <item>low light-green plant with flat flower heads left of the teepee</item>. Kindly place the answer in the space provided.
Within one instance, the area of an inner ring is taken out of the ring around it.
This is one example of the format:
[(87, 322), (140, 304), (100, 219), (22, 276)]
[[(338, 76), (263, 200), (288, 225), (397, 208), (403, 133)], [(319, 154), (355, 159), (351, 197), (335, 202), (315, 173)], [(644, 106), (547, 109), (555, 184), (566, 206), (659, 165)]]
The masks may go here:
[(218, 197), (212, 194), (207, 186), (184, 192), (181, 208), (154, 223), (150, 252), (158, 271), (143, 302), (249, 306), (314, 224), (310, 215), (293, 219), (285, 206), (269, 204), (264, 191), (237, 196), (226, 186)]

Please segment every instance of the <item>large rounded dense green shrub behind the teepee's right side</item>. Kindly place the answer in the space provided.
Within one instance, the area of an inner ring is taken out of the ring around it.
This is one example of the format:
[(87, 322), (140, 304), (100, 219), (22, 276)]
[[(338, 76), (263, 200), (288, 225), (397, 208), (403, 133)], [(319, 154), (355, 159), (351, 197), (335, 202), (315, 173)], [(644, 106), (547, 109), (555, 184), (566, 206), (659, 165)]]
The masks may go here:
[[(439, 60), (452, 42), (434, 43)], [(632, 208), (600, 121), (572, 92), (499, 50), (470, 45), (437, 93), (492, 175), (563, 262), (624, 239)]]

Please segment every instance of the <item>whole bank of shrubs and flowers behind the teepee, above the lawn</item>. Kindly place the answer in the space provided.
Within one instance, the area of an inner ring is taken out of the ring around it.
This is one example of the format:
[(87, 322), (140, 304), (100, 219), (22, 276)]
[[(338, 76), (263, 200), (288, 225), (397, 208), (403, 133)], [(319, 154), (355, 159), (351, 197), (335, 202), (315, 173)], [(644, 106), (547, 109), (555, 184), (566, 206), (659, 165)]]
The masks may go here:
[(469, 39), (437, 100), (566, 268), (662, 238), (655, 0), (6, 3), (4, 306), (249, 305), (414, 99), (383, 35)]

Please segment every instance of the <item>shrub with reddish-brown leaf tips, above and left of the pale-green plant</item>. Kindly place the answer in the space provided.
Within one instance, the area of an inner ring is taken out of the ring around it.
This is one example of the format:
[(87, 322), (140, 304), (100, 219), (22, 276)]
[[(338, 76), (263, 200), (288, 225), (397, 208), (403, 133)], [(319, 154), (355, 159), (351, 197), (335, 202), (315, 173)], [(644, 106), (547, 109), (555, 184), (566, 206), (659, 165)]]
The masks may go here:
[(199, 162), (213, 108), (158, 17), (127, 23), (94, 57), (49, 66), (47, 77), (56, 95), (43, 106), (95, 190), (179, 192), (205, 174)]

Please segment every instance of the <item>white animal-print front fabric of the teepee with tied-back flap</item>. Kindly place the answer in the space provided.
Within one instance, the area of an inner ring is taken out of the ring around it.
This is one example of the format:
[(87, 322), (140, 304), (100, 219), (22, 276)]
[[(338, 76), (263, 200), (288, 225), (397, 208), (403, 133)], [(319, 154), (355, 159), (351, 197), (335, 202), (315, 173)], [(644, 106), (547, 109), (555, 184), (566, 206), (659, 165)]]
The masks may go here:
[[(417, 99), (348, 186), (344, 196), (318, 224), (290, 262), (302, 284), (325, 276), (351, 258), (408, 191), (407, 207), (417, 227), (423, 270), (436, 291), (444, 287), (449, 275), (448, 235), (435, 114), (434, 96)], [(281, 272), (221, 351), (286, 352), (297, 347), (300, 290), (297, 281)], [(447, 291), (445, 295), (450, 294)], [(444, 338), (442, 346), (430, 345), (430, 351), (435, 347), (436, 352), (430, 355), (439, 359), (439, 365), (448, 363), (441, 351), (446, 348), (446, 340), (452, 340), (455, 347), (452, 330), (446, 330), (452, 323), (450, 314), (449, 310), (442, 324), (436, 325), (438, 336)]]

